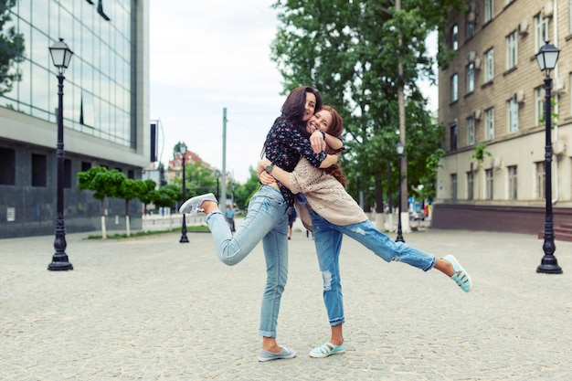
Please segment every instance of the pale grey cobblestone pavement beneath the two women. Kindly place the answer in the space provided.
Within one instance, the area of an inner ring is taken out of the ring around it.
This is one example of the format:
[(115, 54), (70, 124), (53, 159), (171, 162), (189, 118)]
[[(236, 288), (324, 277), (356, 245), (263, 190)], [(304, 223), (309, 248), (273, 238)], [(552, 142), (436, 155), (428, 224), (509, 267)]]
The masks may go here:
[(308, 356), (329, 338), (311, 238), (290, 242), (279, 343), (298, 356), (260, 363), (259, 245), (227, 267), (209, 233), (88, 240), (67, 236), (72, 271), (48, 271), (53, 237), (0, 240), (3, 380), (569, 380), (572, 244), (562, 275), (535, 272), (529, 235), (428, 229), (405, 235), (470, 271), (465, 294), (437, 270), (378, 259), (344, 240), (346, 353)]

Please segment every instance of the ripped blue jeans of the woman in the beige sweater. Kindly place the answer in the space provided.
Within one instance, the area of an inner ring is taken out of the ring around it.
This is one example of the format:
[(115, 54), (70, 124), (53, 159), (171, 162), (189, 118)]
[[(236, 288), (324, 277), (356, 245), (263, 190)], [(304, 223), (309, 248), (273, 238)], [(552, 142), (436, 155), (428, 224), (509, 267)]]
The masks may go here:
[(387, 262), (395, 260), (424, 271), (431, 270), (435, 266), (435, 256), (403, 242), (394, 242), (387, 235), (377, 230), (369, 220), (340, 226), (328, 222), (312, 209), (310, 209), (310, 213), (312, 215), (314, 244), (316, 245), (320, 271), (322, 271), (323, 302), (328, 312), (330, 325), (345, 322), (339, 264), (344, 234), (354, 238), (365, 248), (372, 250), (377, 257)]

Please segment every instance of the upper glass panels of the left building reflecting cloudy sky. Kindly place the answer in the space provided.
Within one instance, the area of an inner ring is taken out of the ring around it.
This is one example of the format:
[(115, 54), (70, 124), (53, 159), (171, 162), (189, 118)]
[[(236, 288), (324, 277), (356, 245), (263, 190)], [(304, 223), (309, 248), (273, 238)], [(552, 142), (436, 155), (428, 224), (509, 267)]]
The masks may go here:
[(58, 79), (48, 47), (62, 37), (74, 52), (65, 73), (66, 128), (132, 146), (132, 3), (105, 2), (110, 21), (98, 14), (94, 3), (16, 3), (11, 25), (24, 36), (26, 51), (15, 68), (21, 80), (0, 96), (0, 107), (56, 121)]

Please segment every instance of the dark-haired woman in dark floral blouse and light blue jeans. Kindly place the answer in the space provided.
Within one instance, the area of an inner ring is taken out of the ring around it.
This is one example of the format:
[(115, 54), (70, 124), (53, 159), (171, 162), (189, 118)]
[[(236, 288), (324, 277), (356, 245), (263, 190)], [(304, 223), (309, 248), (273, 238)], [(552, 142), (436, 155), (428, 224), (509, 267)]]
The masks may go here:
[[(337, 157), (324, 153), (323, 143), (342, 146), (342, 142), (329, 134), (318, 131), (311, 134), (306, 129), (306, 124), (314, 119), (314, 111), (321, 107), (322, 97), (312, 87), (302, 86), (292, 90), (282, 105), (281, 116), (270, 128), (263, 154), (288, 170), (293, 170), (302, 157), (315, 167), (334, 164)], [(281, 295), (288, 278), (287, 210), (293, 204), (294, 196), (287, 187), (280, 183), (261, 185), (250, 198), (247, 216), (234, 236), (213, 194), (190, 198), (179, 208), (181, 213), (201, 211), (207, 214), (206, 221), (218, 258), (228, 266), (246, 258), (262, 240), (267, 280), (260, 312), (260, 361), (296, 355), (291, 349), (276, 343)]]

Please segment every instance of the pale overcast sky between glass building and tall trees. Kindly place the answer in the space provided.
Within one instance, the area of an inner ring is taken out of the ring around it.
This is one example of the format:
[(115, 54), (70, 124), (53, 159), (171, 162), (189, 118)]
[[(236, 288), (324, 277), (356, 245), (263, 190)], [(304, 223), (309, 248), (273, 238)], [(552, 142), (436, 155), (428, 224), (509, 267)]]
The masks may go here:
[[(270, 61), (276, 34), (273, 0), (151, 2), (150, 118), (160, 120), (160, 161), (175, 143), (218, 169), (223, 108), (227, 165), (240, 183), (256, 166), (264, 138), (280, 114), (281, 76)], [(162, 139), (164, 137), (164, 139)]]

